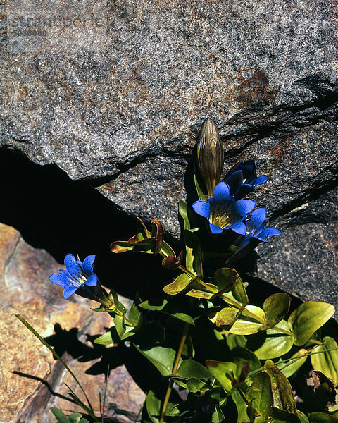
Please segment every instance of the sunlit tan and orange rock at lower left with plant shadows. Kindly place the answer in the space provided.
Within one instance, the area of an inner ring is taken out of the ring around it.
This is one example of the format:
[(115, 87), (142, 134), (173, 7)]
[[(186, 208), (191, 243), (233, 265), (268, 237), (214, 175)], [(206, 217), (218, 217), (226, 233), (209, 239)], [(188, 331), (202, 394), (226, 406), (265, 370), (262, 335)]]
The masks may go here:
[(0, 257), (0, 421), (51, 422), (50, 407), (60, 407), (66, 414), (69, 410), (81, 412), (70, 401), (64, 384), (84, 400), (74, 379), (13, 315), (19, 313), (73, 370), (96, 415), (100, 415), (109, 364), (106, 416), (116, 422), (134, 422), (144, 393), (127, 372), (128, 349), (93, 343), (96, 335), (111, 326), (108, 314), (93, 313), (89, 307), (97, 303), (76, 295), (64, 300), (62, 288), (48, 281), (60, 265), (45, 250), (32, 248), (18, 231), (2, 223)]

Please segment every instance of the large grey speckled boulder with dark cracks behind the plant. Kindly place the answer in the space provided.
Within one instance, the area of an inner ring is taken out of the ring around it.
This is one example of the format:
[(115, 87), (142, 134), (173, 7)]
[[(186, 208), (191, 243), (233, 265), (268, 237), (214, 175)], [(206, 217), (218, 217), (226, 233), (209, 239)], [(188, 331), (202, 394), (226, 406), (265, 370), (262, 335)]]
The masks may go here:
[(187, 160), (213, 118), (226, 166), (253, 158), (270, 177), (256, 200), (284, 235), (259, 248), (258, 276), (338, 305), (336, 1), (3, 7), (4, 147), (177, 235)]

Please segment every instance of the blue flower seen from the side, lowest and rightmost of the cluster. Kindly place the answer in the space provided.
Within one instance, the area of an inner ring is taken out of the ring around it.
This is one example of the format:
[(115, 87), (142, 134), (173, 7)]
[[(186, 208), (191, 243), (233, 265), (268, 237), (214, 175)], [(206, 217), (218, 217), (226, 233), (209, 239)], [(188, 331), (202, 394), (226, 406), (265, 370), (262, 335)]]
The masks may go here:
[(259, 243), (267, 243), (268, 236), (280, 235), (281, 232), (275, 228), (264, 228), (264, 221), (266, 218), (266, 209), (263, 207), (253, 210), (250, 216), (246, 219), (247, 233), (239, 244), (238, 250), (232, 255), (230, 260), (236, 258), (239, 259), (246, 255), (249, 250), (257, 247)]

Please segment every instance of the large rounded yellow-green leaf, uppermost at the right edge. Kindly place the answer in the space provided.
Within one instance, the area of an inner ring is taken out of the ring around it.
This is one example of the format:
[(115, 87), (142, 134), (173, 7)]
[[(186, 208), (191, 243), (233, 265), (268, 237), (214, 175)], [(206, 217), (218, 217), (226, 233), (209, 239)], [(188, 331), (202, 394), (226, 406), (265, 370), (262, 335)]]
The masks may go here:
[(334, 306), (327, 302), (308, 301), (299, 305), (289, 317), (295, 345), (304, 345), (334, 314)]

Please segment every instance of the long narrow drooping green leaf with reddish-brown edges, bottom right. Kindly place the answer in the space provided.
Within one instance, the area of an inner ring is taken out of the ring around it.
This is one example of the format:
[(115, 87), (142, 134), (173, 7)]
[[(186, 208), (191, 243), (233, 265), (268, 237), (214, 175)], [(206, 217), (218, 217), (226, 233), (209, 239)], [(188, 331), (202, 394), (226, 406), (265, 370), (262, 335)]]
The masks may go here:
[(296, 403), (292, 387), (280, 369), (271, 361), (266, 360), (263, 372), (270, 376), (271, 390), (273, 392), (273, 405), (279, 410), (287, 411), (293, 415), (297, 414)]

